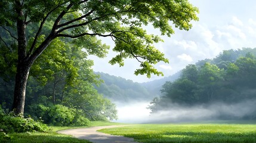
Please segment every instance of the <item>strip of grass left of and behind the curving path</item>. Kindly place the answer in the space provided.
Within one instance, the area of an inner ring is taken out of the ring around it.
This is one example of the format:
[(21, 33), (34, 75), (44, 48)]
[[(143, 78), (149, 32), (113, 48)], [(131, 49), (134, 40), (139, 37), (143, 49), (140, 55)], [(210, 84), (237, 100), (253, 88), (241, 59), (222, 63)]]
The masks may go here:
[[(64, 130), (64, 129), (74, 129), (74, 128), (88, 128), (90, 126), (107, 126), (107, 125), (122, 125), (121, 123), (112, 123), (112, 122), (91, 122), (89, 126), (84, 127), (76, 127), (76, 126), (51, 126), (51, 130), (45, 133), (41, 132), (27, 132), (27, 133), (8, 133), (7, 136), (4, 137), (0, 136), (0, 142), (11, 142), (11, 143), (92, 143), (90, 141), (84, 139), (76, 139), (70, 135), (61, 135), (56, 133), (57, 130)], [(1, 133), (1, 132), (0, 132)]]

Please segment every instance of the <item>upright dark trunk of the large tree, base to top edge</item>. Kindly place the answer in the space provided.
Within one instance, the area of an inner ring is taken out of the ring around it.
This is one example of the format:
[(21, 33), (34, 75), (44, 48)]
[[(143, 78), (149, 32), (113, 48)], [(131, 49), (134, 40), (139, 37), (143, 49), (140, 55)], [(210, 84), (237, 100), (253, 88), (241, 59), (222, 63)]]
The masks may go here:
[(18, 35), (18, 63), (14, 88), (13, 110), (16, 114), (24, 113), (27, 78), (31, 64), (26, 60), (26, 23), (22, 10), (23, 5), (16, 0), (17, 35)]

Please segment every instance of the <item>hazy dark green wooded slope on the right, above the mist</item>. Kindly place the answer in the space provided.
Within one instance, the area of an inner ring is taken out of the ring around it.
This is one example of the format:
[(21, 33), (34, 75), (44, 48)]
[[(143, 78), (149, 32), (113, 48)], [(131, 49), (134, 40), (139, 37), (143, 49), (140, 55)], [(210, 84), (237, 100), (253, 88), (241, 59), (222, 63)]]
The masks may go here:
[[(256, 48), (230, 49), (212, 60), (189, 64), (177, 80), (162, 86), (162, 95), (150, 102), (150, 110), (155, 113), (171, 104), (193, 106), (256, 100), (255, 55)], [(250, 117), (255, 118), (255, 114)]]

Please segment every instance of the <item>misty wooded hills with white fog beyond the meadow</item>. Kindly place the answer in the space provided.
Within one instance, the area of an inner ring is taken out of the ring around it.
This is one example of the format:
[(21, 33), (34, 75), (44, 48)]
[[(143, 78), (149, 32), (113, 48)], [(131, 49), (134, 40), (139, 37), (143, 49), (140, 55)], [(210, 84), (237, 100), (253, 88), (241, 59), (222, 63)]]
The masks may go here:
[(97, 73), (104, 83), (95, 88), (117, 103), (122, 122), (255, 120), (255, 55), (255, 48), (226, 50), (147, 83)]

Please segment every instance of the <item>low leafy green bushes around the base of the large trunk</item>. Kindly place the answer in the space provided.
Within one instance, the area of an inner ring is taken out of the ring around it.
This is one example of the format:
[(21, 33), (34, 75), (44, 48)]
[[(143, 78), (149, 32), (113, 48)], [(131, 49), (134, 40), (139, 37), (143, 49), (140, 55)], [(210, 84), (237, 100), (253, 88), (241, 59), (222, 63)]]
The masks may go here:
[(14, 113), (6, 114), (0, 107), (0, 129), (4, 132), (45, 132), (48, 126), (41, 122), (36, 122), (32, 118), (16, 116)]

